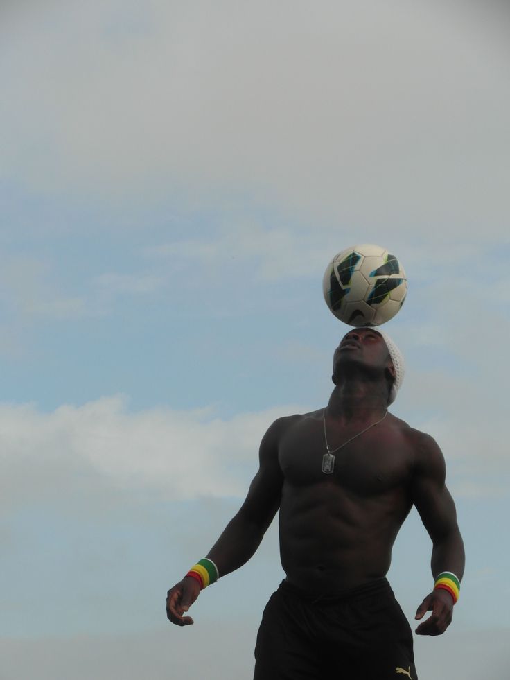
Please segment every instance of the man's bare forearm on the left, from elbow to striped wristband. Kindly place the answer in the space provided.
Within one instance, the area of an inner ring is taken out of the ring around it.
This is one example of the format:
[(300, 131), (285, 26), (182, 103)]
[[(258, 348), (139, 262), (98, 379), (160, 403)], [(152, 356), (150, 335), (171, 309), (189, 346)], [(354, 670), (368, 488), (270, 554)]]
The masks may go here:
[(242, 511), (231, 519), (207, 554), (218, 567), (220, 576), (235, 571), (254, 555), (269, 524), (270, 521), (265, 523), (254, 521)]

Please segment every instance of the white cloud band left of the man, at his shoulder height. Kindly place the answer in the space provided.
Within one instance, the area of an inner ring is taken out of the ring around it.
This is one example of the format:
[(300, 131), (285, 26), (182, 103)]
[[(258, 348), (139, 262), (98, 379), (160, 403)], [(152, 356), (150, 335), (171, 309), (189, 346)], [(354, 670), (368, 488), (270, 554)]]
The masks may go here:
[[(52, 413), (0, 407), (4, 505), (27, 495), (55, 500), (105, 485), (164, 500), (239, 496), (257, 467), (258, 444), (292, 407), (237, 415), (153, 408), (130, 413), (120, 397)], [(26, 476), (26, 472), (30, 475)]]

